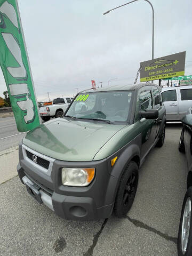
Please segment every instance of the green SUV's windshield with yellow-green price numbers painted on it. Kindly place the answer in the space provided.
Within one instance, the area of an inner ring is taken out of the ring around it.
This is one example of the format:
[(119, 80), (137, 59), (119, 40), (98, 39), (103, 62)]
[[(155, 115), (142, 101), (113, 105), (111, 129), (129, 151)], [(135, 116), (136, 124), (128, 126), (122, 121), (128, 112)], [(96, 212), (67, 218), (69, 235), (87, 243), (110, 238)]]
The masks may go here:
[(125, 122), (129, 114), (131, 97), (131, 91), (81, 93), (77, 95), (66, 115), (83, 119)]

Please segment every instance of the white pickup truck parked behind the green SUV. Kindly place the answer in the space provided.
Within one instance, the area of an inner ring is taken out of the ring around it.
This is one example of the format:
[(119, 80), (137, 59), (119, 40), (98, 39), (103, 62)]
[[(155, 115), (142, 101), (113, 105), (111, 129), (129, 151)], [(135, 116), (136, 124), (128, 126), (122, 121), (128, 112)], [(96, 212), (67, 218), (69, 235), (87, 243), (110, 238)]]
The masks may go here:
[(51, 117), (61, 117), (73, 98), (57, 98), (53, 100), (52, 105), (39, 106), (39, 114), (43, 121), (49, 121)]

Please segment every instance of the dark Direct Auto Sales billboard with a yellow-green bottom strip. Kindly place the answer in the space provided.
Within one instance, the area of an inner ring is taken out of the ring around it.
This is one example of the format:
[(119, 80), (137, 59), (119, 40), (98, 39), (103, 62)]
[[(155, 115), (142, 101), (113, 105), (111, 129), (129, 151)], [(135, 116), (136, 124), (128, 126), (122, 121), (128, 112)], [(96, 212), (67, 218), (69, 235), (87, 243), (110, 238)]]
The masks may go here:
[(140, 62), (140, 82), (185, 75), (186, 52)]

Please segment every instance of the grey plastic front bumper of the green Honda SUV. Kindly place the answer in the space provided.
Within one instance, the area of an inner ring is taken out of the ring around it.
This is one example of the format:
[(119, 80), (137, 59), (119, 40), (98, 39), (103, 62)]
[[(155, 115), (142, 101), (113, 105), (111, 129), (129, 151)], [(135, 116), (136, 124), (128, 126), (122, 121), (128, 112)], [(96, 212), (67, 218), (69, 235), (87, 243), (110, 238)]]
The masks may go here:
[[(114, 198), (111, 189), (116, 178), (108, 172), (107, 159), (95, 162), (64, 162), (55, 160), (51, 173), (44, 173), (38, 166), (26, 161), (19, 147), (20, 163), (17, 170), (22, 183), (39, 187), (42, 202), (61, 218), (74, 220), (97, 220), (108, 218), (113, 211)], [(94, 167), (96, 175), (90, 186), (67, 187), (61, 183), (61, 167)], [(110, 182), (109, 182), (110, 181)], [(112, 181), (112, 182), (111, 182)]]

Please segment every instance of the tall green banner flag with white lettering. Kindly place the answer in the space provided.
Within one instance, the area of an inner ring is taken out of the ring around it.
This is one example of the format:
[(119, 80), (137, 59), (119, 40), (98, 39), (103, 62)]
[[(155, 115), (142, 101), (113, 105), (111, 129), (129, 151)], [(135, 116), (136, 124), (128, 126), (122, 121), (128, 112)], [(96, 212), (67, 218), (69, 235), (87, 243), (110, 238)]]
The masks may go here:
[(34, 129), (38, 106), (17, 0), (0, 0), (0, 65), (18, 131)]

